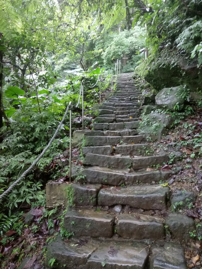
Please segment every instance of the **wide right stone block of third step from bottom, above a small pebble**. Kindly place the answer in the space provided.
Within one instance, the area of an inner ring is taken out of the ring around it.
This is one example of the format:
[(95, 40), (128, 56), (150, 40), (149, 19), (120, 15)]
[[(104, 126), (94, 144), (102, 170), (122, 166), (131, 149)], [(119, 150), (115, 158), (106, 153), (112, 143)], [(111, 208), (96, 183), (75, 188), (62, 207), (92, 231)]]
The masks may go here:
[(101, 189), (97, 202), (100, 206), (128, 205), (145, 210), (167, 208), (169, 187), (160, 185), (136, 185)]

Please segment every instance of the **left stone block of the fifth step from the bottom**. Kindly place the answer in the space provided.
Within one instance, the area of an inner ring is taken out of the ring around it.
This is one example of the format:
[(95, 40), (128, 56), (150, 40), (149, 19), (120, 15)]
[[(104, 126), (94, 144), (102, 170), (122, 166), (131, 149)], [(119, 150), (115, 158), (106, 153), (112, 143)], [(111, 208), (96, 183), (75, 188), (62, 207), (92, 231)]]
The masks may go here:
[(88, 153), (83, 160), (83, 164), (126, 169), (131, 166), (132, 159), (129, 156), (117, 157)]

